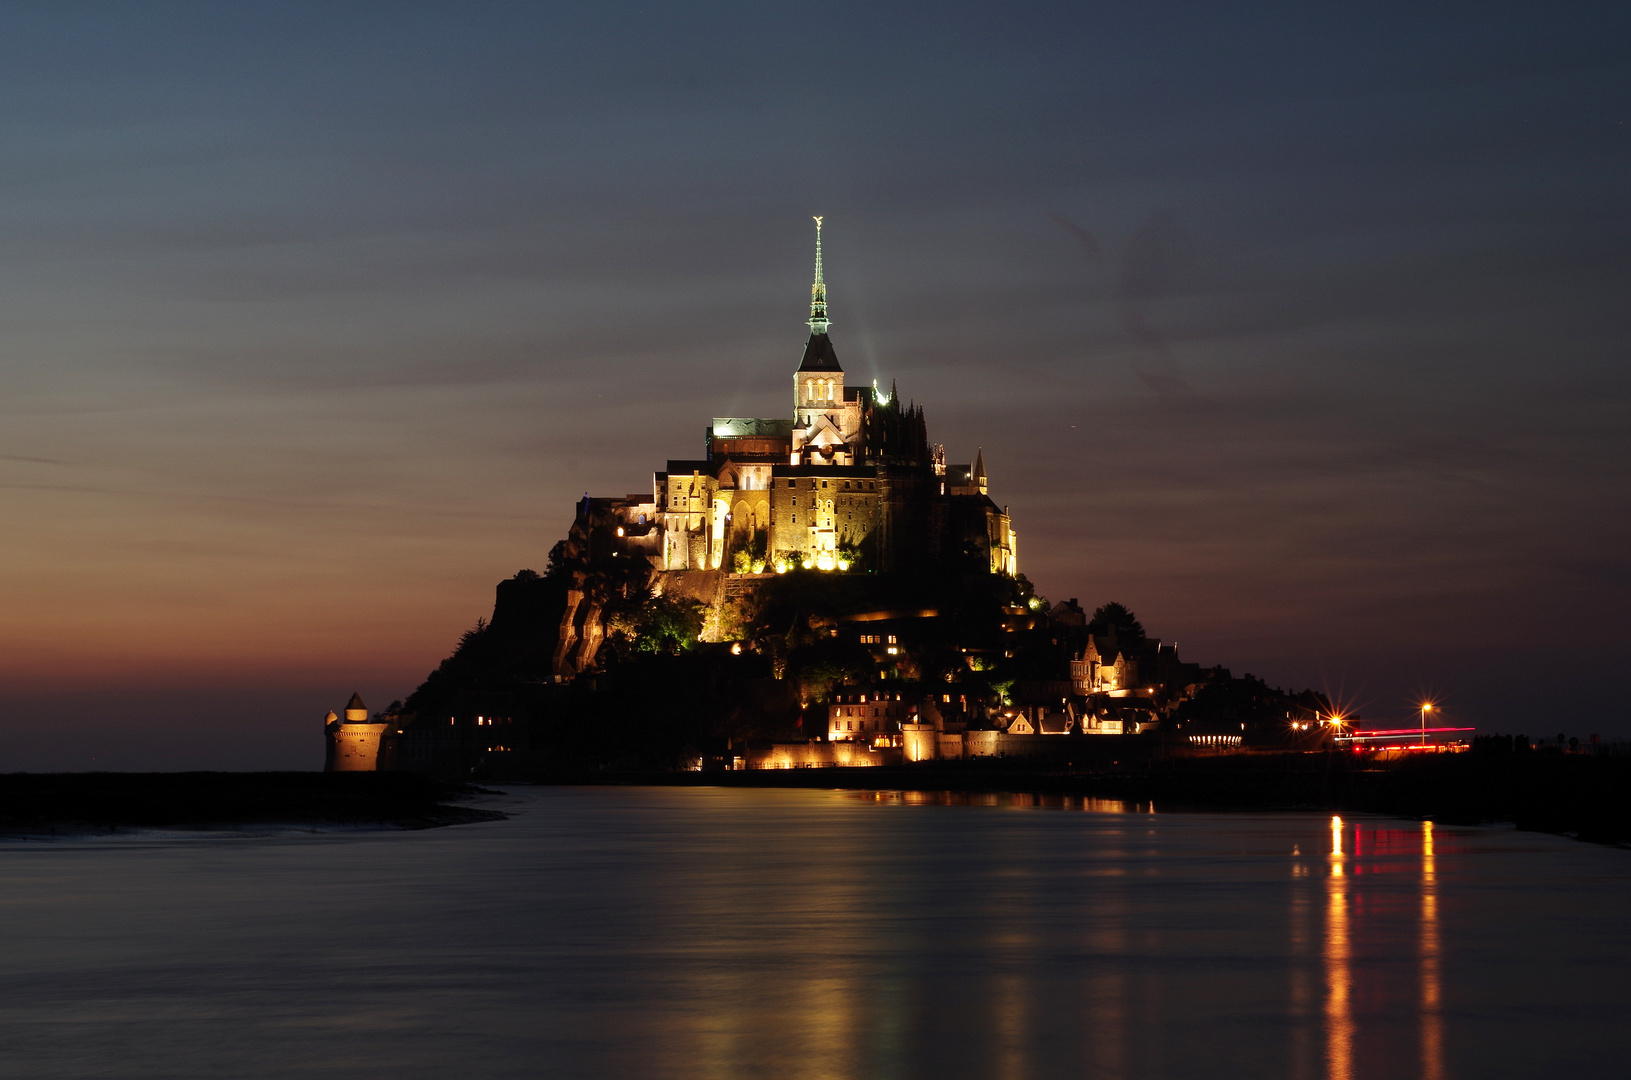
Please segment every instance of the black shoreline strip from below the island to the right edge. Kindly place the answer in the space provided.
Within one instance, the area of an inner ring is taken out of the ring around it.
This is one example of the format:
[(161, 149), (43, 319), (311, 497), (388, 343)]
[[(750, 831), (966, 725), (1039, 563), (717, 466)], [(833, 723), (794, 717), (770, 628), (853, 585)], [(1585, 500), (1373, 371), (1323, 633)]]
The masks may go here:
[(551, 785), (899, 790), (1109, 798), (1174, 809), (1362, 811), (1445, 824), (1512, 824), (1631, 845), (1631, 759), (1443, 754), (1375, 765), (1344, 754), (1243, 754), (1068, 772), (1013, 760), (879, 768), (561, 772)]

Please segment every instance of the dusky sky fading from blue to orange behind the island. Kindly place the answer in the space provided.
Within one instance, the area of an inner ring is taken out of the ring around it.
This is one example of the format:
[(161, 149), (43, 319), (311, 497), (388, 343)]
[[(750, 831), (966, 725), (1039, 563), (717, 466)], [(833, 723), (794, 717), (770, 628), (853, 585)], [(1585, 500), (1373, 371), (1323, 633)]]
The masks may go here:
[(1631, 739), (1623, 3), (0, 10), (0, 772), (315, 768), (848, 377), (1050, 599)]

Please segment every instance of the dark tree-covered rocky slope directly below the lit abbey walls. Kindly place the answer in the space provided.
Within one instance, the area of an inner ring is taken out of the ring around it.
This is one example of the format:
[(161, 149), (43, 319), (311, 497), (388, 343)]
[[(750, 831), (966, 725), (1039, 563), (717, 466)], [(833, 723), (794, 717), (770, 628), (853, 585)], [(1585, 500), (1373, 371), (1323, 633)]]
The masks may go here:
[[(590, 669), (556, 680), (569, 589), (599, 605), (605, 641)], [(468, 630), (400, 713), (421, 731), (480, 711), (520, 715), (551, 768), (674, 768), (714, 742), (824, 734), (817, 706), (843, 682), (961, 674), (988, 692), (1003, 672), (969, 675), (961, 648), (995, 644), (1003, 605), (1031, 595), (1023, 578), (796, 569), (729, 610), (732, 641), (709, 644), (698, 641), (703, 607), (656, 595), (643, 563), (574, 558), (558, 545), (546, 573), (499, 584), (493, 620)], [(936, 610), (938, 636), (879, 671), (853, 636), (832, 633), (843, 617), (876, 610)]]

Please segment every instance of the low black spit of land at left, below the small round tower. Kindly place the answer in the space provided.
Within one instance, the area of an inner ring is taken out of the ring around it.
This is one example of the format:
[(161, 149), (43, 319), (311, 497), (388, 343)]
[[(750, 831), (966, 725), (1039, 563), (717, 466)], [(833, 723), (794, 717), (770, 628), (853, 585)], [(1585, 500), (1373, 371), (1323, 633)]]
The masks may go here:
[(0, 835), (352, 825), (437, 829), (504, 814), (455, 806), (480, 788), (418, 773), (8, 773)]

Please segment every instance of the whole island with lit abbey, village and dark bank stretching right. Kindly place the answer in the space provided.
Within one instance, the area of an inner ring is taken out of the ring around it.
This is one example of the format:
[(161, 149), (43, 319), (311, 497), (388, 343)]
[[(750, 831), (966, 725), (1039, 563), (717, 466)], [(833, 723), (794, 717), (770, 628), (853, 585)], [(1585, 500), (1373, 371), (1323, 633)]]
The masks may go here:
[(1323, 693), (1182, 661), (1124, 604), (1037, 595), (983, 452), (948, 463), (923, 406), (846, 383), (819, 225), (791, 416), (713, 418), (701, 457), (667, 460), (648, 491), (586, 494), (543, 573), (499, 582), (491, 620), (404, 702), (370, 713), (354, 695), (325, 718), (329, 770), (1553, 822), (1523, 796), (1540, 785), (1618, 821), (1618, 760), (1496, 765), (1456, 754), (1460, 729), (1429, 739), (1425, 711), (1403, 747)]

